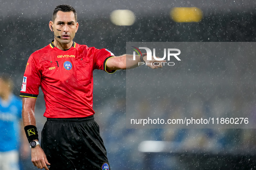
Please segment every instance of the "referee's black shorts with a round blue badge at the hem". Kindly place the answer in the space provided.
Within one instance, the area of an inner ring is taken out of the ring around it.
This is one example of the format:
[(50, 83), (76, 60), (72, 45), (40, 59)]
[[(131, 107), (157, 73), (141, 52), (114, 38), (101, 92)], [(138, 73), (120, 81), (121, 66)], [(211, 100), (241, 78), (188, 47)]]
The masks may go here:
[(107, 151), (94, 116), (47, 118), (41, 146), (49, 170), (108, 170)]

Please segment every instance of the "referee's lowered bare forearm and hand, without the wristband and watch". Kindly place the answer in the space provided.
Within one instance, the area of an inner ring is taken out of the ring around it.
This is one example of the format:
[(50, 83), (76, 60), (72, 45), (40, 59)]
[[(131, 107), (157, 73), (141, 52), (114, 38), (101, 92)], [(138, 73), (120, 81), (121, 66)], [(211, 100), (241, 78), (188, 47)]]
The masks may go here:
[[(36, 126), (35, 105), (36, 98), (23, 98), (22, 117), (24, 126)], [(38, 140), (37, 140), (38, 141)], [(46, 164), (49, 164), (46, 155), (40, 145), (31, 148), (31, 161), (37, 168), (49, 170)], [(50, 165), (50, 164), (49, 164)]]

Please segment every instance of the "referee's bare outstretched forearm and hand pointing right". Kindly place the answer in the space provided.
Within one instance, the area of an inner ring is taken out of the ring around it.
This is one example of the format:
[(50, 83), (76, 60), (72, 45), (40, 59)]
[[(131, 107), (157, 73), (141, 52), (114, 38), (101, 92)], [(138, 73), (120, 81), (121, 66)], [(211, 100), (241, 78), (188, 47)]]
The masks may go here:
[[(146, 60), (146, 56), (143, 57), (143, 60), (146, 62), (146, 65), (152, 69), (162, 68), (162, 63), (159, 65), (154, 65), (153, 63), (159, 63), (158, 60)], [(165, 62), (165, 60), (161, 61)], [(136, 55), (135, 60), (133, 60), (133, 55), (123, 54), (122, 56), (112, 57), (107, 61), (107, 69), (117, 70), (117, 69), (133, 69), (138, 67), (141, 63), (140, 57)]]

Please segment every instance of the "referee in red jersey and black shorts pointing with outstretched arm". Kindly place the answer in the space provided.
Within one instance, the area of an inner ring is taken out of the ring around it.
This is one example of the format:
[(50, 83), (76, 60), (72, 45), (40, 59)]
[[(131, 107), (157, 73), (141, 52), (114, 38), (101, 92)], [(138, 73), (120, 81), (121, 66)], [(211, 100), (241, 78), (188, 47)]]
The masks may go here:
[[(115, 57), (107, 49), (87, 47), (73, 41), (78, 31), (72, 6), (59, 5), (49, 28), (54, 40), (29, 57), (20, 96), (23, 123), (31, 148), (32, 163), (45, 170), (109, 170), (107, 151), (94, 121), (93, 70), (113, 73), (130, 69), (146, 57)], [(129, 61), (126, 63), (126, 60)], [(152, 63), (151, 68), (158, 68)], [(41, 87), (45, 99), (41, 146), (36, 129), (35, 104)]]

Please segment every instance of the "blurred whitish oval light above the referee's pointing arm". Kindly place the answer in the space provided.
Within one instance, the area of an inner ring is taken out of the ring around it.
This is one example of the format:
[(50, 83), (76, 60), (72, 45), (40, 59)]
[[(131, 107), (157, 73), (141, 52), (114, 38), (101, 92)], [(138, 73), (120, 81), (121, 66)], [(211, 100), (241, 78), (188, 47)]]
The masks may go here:
[(110, 20), (115, 25), (133, 25), (135, 22), (135, 14), (128, 9), (114, 10), (110, 14)]

